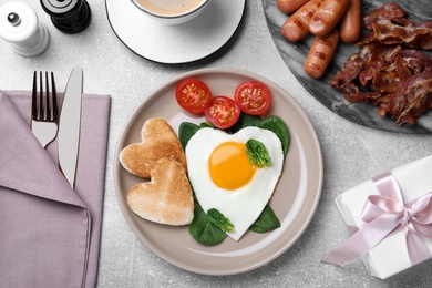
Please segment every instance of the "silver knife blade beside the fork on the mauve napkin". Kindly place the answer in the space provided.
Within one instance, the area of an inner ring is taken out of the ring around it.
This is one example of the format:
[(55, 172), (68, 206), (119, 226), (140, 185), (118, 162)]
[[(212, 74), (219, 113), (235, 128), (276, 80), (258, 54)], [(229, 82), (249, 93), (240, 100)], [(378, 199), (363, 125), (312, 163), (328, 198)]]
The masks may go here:
[(59, 165), (64, 177), (75, 186), (78, 151), (80, 145), (83, 71), (74, 68), (69, 76), (59, 121)]

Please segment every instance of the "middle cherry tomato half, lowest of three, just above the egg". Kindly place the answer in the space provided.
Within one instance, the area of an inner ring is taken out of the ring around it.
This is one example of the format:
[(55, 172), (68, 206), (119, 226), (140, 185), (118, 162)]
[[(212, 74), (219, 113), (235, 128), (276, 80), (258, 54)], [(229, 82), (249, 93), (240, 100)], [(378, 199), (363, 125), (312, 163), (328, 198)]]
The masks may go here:
[(218, 128), (229, 128), (240, 117), (240, 107), (227, 96), (216, 96), (204, 111), (206, 119)]

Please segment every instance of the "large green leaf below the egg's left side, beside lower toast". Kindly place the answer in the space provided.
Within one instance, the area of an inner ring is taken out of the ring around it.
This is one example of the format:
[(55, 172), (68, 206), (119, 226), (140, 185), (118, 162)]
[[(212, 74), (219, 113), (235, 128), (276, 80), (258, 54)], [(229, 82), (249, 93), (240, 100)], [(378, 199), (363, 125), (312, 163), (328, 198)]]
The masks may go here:
[(194, 219), (188, 227), (191, 236), (205, 246), (220, 244), (227, 235), (214, 225), (198, 203), (195, 204)]

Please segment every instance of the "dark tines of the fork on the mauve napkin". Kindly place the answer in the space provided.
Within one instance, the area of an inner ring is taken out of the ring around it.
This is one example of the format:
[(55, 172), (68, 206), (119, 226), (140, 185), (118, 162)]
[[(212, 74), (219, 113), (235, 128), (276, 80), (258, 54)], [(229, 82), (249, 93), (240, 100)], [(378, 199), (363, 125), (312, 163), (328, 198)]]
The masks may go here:
[[(51, 72), (51, 93), (49, 85), (48, 71), (45, 71), (45, 84), (43, 86), (43, 74), (39, 72), (39, 89), (38, 73), (33, 74), (33, 94), (32, 94), (32, 119), (34, 121), (58, 122), (58, 105), (54, 73)], [(39, 91), (39, 93), (38, 93)]]

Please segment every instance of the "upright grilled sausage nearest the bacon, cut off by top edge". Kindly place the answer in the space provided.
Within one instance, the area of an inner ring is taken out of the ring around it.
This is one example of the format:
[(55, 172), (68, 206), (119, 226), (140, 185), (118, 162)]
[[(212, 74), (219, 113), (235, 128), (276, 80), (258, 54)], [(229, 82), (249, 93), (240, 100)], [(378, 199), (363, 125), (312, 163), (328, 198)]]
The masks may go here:
[(347, 11), (339, 21), (340, 40), (353, 43), (360, 37), (361, 30), (361, 0), (350, 0)]

